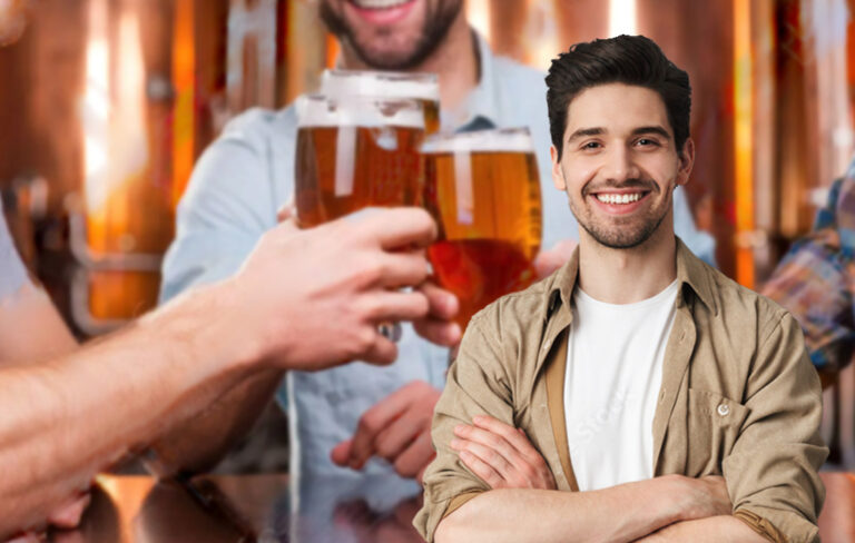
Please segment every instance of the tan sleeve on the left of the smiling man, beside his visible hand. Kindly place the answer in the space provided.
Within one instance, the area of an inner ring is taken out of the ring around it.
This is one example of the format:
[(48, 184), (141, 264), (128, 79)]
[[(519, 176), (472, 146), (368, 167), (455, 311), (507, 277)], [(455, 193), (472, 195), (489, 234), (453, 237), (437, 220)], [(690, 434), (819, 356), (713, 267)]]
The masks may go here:
[(471, 424), (475, 415), (490, 415), (513, 424), (510, 386), (501, 363), (501, 340), (498, 334), (488, 329), (489, 319), (483, 317), (484, 312), (466, 327), (433, 415), (431, 435), (436, 457), (425, 470), (424, 505), (413, 521), (426, 541), (433, 541), (436, 526), (446, 514), (490, 490), (451, 448), (454, 427)]

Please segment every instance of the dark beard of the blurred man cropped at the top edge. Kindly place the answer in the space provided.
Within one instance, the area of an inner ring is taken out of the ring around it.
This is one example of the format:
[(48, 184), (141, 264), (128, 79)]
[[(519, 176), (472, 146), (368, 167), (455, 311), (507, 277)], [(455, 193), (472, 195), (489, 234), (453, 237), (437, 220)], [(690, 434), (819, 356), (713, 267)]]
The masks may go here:
[(412, 52), (401, 56), (400, 52), (374, 53), (354, 39), (354, 32), (344, 21), (343, 17), (330, 7), (327, 2), (321, 2), (321, 18), (332, 33), (353, 48), (353, 51), (365, 65), (377, 70), (411, 70), (422, 65), (445, 39), (451, 23), (454, 22), (463, 3), (441, 2), (436, 13), (425, 13), (424, 27), (419, 36)]

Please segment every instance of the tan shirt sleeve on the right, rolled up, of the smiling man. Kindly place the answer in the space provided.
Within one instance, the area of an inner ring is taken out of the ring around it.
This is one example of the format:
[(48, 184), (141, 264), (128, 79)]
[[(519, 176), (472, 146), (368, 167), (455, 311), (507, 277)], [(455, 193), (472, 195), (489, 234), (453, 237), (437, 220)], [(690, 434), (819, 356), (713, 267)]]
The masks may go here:
[[(770, 328), (770, 329), (768, 329)], [(818, 541), (822, 388), (789, 314), (767, 327), (745, 394), (749, 414), (723, 462), (734, 514), (769, 541)]]

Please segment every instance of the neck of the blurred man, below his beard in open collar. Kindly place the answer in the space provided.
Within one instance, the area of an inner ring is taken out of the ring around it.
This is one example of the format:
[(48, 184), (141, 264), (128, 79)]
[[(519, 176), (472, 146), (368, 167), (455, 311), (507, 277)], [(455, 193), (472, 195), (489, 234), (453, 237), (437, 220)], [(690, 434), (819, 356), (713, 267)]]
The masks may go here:
[[(456, 109), (469, 92), (475, 88), (479, 78), (479, 58), (472, 40), (464, 10), (449, 28), (445, 39), (433, 55), (411, 71), (432, 72), (440, 77), (440, 107)], [(352, 70), (372, 69), (362, 62), (348, 47), (342, 49), (342, 68)]]

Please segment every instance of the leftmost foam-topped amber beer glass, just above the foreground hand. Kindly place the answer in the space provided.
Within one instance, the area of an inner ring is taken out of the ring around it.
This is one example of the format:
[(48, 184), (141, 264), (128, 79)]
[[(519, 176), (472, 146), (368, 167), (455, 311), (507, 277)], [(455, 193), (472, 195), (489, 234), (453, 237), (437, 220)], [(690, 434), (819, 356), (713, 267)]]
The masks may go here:
[(307, 96), (297, 102), (297, 221), (420, 206), (424, 112), (414, 100)]

